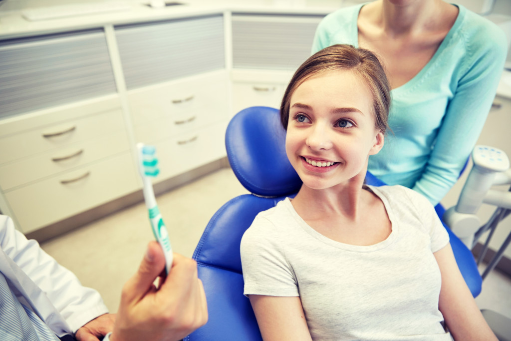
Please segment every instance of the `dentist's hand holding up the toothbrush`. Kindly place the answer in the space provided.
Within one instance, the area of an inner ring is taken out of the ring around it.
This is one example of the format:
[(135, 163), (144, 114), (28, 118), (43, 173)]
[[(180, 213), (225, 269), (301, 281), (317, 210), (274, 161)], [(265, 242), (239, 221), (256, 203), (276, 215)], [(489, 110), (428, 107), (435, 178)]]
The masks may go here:
[[(157, 242), (150, 242), (136, 274), (126, 282), (111, 341), (176, 341), (207, 322), (206, 296), (197, 263), (174, 254), (170, 274)], [(160, 277), (156, 288), (154, 280)], [(162, 282), (162, 283), (161, 283)]]

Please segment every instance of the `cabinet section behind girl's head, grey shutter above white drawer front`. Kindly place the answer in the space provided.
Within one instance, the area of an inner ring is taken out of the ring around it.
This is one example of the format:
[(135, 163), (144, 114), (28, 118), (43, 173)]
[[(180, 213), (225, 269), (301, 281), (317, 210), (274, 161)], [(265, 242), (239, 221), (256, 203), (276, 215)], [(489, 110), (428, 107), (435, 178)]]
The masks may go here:
[(232, 15), (233, 112), (280, 107), (289, 79), (309, 56), (323, 15)]

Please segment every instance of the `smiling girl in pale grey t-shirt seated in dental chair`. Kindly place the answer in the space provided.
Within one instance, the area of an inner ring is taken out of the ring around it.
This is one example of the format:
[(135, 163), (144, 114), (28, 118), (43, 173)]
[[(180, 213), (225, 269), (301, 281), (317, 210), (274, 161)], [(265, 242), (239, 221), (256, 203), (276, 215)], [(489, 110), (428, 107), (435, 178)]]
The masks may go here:
[(291, 79), (281, 119), (303, 186), (241, 242), (244, 293), (265, 340), (496, 340), (428, 200), (364, 186), (389, 92), (375, 55), (346, 45)]

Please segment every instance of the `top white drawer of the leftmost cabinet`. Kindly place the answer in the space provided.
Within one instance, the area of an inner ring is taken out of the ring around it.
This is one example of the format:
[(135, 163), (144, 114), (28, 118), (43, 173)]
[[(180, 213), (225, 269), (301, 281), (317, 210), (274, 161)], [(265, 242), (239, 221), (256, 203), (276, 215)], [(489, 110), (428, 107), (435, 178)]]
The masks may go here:
[[(51, 115), (48, 117), (49, 122)], [(0, 138), (0, 164), (23, 157), (57, 150), (124, 129), (121, 108), (58, 123)]]

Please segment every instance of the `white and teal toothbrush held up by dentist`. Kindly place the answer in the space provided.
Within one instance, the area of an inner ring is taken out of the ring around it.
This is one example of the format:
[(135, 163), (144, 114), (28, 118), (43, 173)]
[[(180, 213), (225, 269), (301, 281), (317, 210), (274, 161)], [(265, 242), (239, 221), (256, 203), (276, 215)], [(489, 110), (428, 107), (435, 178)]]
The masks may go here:
[(172, 247), (170, 246), (169, 234), (165, 223), (161, 218), (158, 206), (156, 205), (156, 198), (154, 197), (153, 186), (151, 184), (151, 177), (155, 177), (159, 173), (158, 158), (156, 157), (156, 148), (154, 146), (146, 146), (143, 143), (137, 143), (137, 156), (138, 156), (138, 172), (142, 177), (144, 200), (146, 207), (149, 211), (149, 220), (151, 221), (151, 228), (153, 230), (154, 238), (161, 245), (165, 254), (165, 270), (169, 274), (172, 267)]

